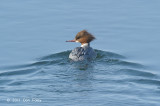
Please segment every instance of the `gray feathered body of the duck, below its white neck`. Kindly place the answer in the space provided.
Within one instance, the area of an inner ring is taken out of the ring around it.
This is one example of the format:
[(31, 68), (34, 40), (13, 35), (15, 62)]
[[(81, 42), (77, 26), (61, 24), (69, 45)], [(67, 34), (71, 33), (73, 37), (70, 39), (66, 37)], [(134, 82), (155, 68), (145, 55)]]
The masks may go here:
[(93, 60), (97, 56), (96, 52), (91, 47), (76, 47), (72, 50), (69, 58), (73, 61)]

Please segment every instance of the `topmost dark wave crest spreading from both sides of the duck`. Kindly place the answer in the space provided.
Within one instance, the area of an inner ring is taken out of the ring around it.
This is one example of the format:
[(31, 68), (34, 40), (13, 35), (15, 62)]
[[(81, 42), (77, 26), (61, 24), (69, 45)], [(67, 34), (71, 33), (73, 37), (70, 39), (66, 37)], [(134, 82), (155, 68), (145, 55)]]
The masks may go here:
[[(99, 64), (107, 64), (107, 65), (120, 65), (120, 66), (129, 66), (129, 67), (136, 67), (136, 68), (142, 68), (144, 67), (141, 64), (133, 63), (124, 61), (124, 56), (113, 53), (113, 52), (106, 52), (102, 50), (95, 50), (97, 52), (97, 57), (95, 59), (95, 63), (98, 62)], [(22, 69), (22, 68), (30, 68), (30, 67), (44, 67), (44, 66), (50, 66), (50, 65), (67, 65), (73, 62), (69, 61), (69, 53), (71, 50), (51, 54), (48, 56), (44, 56), (41, 58), (38, 58), (36, 62), (30, 63), (30, 64), (24, 64), (19, 66), (8, 66), (1, 69)], [(77, 64), (77, 63), (76, 63)], [(81, 62), (78, 64), (82, 64)], [(88, 63), (87, 63), (88, 64)]]

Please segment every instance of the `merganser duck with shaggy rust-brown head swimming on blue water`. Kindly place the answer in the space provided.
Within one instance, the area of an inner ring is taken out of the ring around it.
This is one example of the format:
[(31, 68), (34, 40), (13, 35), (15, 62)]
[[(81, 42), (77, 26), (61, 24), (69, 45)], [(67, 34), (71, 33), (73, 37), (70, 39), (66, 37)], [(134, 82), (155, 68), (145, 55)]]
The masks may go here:
[(79, 42), (81, 47), (76, 47), (72, 50), (69, 55), (69, 58), (73, 61), (83, 61), (83, 60), (93, 60), (96, 58), (96, 52), (90, 47), (90, 42), (93, 41), (95, 37), (87, 32), (82, 30), (77, 33), (74, 40), (69, 40), (66, 42)]

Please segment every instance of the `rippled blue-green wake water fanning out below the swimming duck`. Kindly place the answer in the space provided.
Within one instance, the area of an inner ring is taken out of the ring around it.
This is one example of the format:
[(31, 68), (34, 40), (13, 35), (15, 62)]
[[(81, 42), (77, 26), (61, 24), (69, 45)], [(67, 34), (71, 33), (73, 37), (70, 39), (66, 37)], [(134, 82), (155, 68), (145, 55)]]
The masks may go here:
[(70, 52), (44, 56), (31, 64), (3, 67), (1, 102), (55, 106), (158, 104), (159, 76), (145, 66), (100, 50), (96, 50), (95, 61), (75, 63), (68, 59)]

